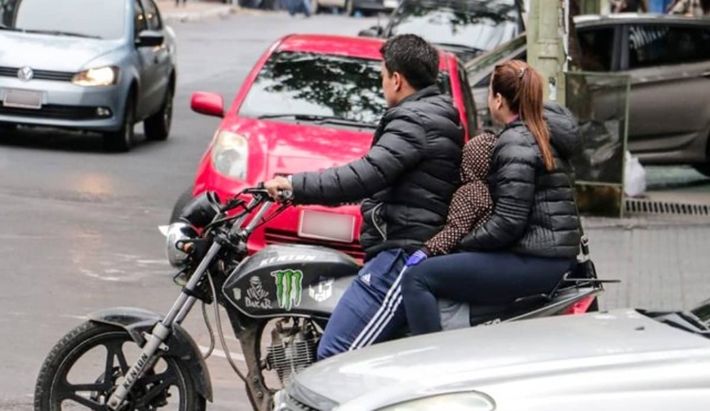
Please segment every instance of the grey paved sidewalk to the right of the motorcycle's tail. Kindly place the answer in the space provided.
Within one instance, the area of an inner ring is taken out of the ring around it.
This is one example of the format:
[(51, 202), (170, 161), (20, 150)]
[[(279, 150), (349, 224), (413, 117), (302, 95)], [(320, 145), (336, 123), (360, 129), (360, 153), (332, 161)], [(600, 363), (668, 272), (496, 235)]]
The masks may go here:
[(585, 219), (599, 277), (621, 280), (605, 287), (602, 308), (688, 309), (710, 298), (710, 222), (629, 223)]

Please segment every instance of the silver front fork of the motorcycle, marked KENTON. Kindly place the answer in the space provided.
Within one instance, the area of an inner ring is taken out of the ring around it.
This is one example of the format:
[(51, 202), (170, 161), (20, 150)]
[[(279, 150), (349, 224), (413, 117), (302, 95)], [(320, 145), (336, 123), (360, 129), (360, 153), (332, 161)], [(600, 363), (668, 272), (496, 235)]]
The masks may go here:
[[(190, 281), (185, 286), (185, 288), (181, 291), (180, 297), (170, 309), (165, 318), (162, 321), (158, 322), (155, 327), (153, 327), (151, 333), (146, 336), (146, 342), (143, 346), (143, 350), (141, 351), (138, 360), (133, 363), (133, 366), (131, 366), (125, 376), (121, 377), (118, 380), (115, 390), (109, 398), (106, 405), (110, 410), (116, 411), (121, 409), (123, 402), (125, 401), (125, 398), (128, 397), (129, 392), (131, 392), (133, 384), (135, 384), (135, 381), (138, 381), (138, 379), (143, 376), (143, 372), (145, 372), (145, 370), (149, 370), (154, 366), (158, 359), (155, 353), (161, 349), (168, 349), (164, 342), (168, 337), (170, 337), (172, 326), (174, 323), (181, 323), (196, 301), (196, 298), (190, 296), (187, 292), (195, 289), (197, 282), (200, 282), (200, 279), (207, 271), (212, 259), (220, 251), (220, 248), (221, 246), (219, 243), (214, 243), (212, 247), (210, 247), (207, 255), (202, 259), (200, 266), (197, 266), (197, 269), (192, 275), (192, 278), (190, 278)], [(185, 290), (187, 292), (185, 292)]]

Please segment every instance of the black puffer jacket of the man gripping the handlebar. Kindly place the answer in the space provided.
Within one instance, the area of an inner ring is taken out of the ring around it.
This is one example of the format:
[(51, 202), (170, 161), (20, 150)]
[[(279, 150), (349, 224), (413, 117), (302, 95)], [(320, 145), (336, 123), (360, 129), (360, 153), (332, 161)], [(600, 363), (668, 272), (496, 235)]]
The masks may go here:
[(459, 184), (464, 129), (436, 85), (387, 110), (369, 152), (352, 163), (292, 177), (295, 204), (362, 203), (365, 259), (388, 248), (412, 253), (446, 222)]

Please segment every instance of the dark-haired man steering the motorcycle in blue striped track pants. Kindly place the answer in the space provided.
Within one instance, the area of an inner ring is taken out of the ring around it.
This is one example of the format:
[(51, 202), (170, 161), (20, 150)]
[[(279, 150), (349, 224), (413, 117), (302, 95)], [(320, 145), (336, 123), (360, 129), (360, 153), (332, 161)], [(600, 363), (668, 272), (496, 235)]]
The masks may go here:
[(265, 183), (294, 204), (363, 201), (361, 244), (365, 265), (349, 286), (318, 345), (318, 360), (392, 339), (406, 326), (400, 271), (409, 254), (444, 225), (458, 187), (464, 129), (449, 96), (436, 85), (438, 51), (413, 34), (381, 50), (388, 110), (368, 153), (317, 173)]

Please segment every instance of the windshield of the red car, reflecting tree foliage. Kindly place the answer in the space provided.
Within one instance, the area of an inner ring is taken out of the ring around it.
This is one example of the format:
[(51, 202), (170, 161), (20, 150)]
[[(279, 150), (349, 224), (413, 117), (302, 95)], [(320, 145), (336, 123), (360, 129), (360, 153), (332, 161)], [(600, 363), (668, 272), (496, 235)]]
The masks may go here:
[[(336, 117), (377, 125), (386, 110), (378, 60), (277, 52), (264, 64), (242, 103), (244, 117)], [(439, 86), (450, 92), (448, 75)], [(307, 119), (306, 119), (307, 120)]]

